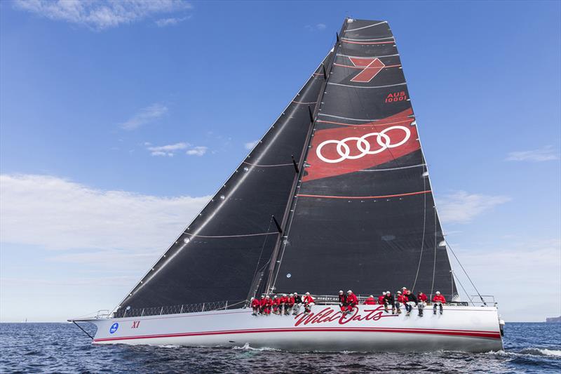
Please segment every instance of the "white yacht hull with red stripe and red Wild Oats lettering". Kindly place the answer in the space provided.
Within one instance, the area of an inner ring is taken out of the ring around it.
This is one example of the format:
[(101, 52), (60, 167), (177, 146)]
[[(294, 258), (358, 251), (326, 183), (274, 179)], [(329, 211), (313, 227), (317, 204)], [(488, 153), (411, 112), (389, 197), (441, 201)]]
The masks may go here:
[[(252, 316), (250, 309), (168, 314), (95, 323), (94, 344), (269, 347), (289, 351), (488, 352), (502, 349), (496, 307), (445, 307), (424, 316), (392, 316), (379, 305), (360, 305), (341, 317), (337, 305), (316, 305), (304, 316)], [(111, 333), (111, 326), (119, 326)]]

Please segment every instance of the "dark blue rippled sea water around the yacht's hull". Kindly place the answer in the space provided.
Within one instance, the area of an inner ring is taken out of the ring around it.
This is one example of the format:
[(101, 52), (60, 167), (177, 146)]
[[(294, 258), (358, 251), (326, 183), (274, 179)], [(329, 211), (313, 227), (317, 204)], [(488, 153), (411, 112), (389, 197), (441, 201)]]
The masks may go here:
[[(90, 328), (93, 333), (93, 328)], [(70, 323), (0, 323), (1, 373), (561, 373), (561, 324), (507, 323), (502, 352), (291, 353), (96, 346)]]

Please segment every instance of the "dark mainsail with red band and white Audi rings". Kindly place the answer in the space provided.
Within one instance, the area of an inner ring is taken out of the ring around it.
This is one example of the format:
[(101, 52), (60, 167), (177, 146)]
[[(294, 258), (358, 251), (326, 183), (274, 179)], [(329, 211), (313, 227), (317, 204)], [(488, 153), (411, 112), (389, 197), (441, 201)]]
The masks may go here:
[(271, 285), (454, 294), (388, 23), (347, 20), (335, 52)]

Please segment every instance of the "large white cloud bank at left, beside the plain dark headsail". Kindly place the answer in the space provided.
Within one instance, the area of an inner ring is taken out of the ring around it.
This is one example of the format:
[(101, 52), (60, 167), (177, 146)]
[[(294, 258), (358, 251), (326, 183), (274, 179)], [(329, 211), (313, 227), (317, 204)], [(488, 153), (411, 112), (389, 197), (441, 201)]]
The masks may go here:
[(48, 175), (3, 174), (0, 240), (53, 250), (90, 249), (104, 255), (128, 251), (154, 258), (208, 199), (105, 191)]

